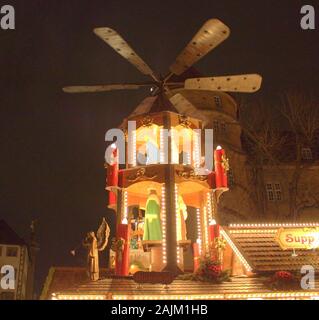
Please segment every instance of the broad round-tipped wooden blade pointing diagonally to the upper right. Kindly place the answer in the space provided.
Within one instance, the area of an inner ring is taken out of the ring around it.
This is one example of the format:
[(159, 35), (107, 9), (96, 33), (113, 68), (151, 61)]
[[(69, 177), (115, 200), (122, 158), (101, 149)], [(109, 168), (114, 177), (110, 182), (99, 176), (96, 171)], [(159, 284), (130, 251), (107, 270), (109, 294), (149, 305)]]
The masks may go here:
[(208, 20), (178, 55), (169, 70), (176, 75), (182, 74), (195, 62), (226, 40), (229, 34), (229, 28), (221, 21), (217, 19)]

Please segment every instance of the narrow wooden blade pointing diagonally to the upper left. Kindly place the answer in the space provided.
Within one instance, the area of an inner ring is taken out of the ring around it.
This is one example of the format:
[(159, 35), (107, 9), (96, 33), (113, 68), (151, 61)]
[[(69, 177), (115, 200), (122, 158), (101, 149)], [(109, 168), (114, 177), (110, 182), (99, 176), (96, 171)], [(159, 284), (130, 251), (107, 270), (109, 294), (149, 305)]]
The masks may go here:
[(158, 81), (152, 69), (129, 46), (129, 44), (111, 28), (96, 28), (94, 33), (112, 47), (119, 55), (133, 64), (140, 72)]

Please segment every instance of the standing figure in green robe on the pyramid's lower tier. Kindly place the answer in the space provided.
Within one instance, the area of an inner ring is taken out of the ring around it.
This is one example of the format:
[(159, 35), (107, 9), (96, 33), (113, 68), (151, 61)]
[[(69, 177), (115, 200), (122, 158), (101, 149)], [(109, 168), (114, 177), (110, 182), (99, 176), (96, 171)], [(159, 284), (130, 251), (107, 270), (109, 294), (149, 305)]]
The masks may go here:
[(162, 240), (160, 201), (155, 189), (149, 190), (145, 207), (143, 240)]

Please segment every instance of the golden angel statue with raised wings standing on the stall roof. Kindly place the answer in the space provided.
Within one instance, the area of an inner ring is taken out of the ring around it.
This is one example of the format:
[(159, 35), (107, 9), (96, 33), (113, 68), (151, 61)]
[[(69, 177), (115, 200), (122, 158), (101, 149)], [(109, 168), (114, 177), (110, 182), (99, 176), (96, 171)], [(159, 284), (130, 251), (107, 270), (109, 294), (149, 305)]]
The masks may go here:
[(87, 248), (87, 268), (90, 280), (99, 280), (99, 251), (103, 251), (108, 243), (110, 228), (105, 218), (103, 218), (99, 229), (95, 233), (90, 231), (83, 240), (83, 246)]

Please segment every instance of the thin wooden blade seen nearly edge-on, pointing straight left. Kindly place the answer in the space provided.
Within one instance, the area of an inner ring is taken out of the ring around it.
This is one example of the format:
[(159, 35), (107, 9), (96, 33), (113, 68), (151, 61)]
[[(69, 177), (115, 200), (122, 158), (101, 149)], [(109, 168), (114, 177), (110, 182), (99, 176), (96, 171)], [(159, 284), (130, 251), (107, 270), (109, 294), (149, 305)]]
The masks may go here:
[(152, 84), (105, 84), (97, 86), (69, 86), (64, 87), (66, 93), (84, 93), (84, 92), (104, 92), (112, 90), (134, 90), (141, 87), (148, 87)]

